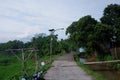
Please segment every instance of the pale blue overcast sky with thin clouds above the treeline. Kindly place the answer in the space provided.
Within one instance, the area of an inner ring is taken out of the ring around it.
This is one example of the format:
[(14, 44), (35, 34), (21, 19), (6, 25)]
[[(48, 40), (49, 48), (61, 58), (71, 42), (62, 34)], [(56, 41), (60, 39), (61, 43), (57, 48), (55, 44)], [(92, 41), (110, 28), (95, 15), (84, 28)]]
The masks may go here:
[[(114, 3), (120, 0), (0, 0), (0, 43), (66, 29), (85, 15), (99, 20), (104, 8)], [(55, 34), (66, 38), (65, 30)]]

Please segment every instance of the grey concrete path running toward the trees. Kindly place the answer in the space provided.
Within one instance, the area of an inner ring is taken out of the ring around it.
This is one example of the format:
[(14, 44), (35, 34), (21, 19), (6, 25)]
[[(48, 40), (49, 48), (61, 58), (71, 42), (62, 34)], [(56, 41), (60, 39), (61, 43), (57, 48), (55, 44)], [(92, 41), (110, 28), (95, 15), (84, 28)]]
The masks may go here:
[(95, 80), (77, 66), (73, 53), (64, 55), (52, 64), (47, 71), (45, 80)]

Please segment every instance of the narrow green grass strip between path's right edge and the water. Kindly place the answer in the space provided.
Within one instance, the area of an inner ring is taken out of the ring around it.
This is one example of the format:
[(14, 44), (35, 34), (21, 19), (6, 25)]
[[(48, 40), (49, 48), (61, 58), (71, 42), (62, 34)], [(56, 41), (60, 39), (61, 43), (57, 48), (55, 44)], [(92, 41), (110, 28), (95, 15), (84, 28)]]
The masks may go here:
[(77, 54), (74, 55), (74, 59), (75, 59), (76, 63), (78, 64), (78, 66), (80, 66), (84, 71), (86, 71), (88, 74), (90, 74), (91, 76), (93, 76), (96, 80), (107, 80), (107, 79), (104, 78), (101, 74), (90, 70), (90, 69), (89, 69), (87, 66), (85, 66), (83, 63), (80, 63), (79, 57), (78, 57)]

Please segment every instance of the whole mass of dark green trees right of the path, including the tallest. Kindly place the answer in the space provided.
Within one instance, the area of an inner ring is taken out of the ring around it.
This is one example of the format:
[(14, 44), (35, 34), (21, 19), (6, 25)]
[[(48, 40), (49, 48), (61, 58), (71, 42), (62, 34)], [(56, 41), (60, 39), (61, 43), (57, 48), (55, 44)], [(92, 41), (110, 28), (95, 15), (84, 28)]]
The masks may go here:
[(97, 52), (104, 57), (110, 54), (110, 48), (115, 42), (120, 43), (120, 5), (108, 5), (100, 20), (98, 22), (90, 15), (84, 16), (68, 26), (66, 34), (69, 34), (70, 41), (78, 48), (85, 47), (88, 53)]

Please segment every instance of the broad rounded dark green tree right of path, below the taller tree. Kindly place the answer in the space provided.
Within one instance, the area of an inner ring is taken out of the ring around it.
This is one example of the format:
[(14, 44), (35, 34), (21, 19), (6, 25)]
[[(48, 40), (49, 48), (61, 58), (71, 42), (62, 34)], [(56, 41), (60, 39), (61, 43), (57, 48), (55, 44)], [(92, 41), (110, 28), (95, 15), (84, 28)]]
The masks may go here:
[[(85, 47), (89, 55), (104, 57), (109, 53), (108, 45), (112, 37), (112, 28), (107, 24), (97, 22), (91, 16), (84, 16), (73, 22), (66, 31), (69, 39), (78, 47)], [(93, 54), (95, 53), (95, 54)]]

